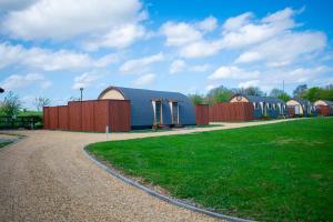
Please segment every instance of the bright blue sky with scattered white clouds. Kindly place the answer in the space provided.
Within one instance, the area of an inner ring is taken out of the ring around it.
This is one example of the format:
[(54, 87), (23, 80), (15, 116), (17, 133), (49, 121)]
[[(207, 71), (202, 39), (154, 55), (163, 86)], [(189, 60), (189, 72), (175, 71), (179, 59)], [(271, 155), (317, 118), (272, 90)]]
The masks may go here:
[[(0, 0), (0, 87), (33, 109), (109, 85), (292, 93), (333, 83), (332, 1)], [(3, 99), (6, 93), (0, 95)]]

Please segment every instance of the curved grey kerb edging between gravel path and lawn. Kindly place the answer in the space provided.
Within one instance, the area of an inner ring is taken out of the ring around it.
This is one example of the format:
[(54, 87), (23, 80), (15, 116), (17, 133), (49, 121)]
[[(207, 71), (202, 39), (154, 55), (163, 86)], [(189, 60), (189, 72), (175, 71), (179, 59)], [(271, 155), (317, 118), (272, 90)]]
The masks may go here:
[(223, 219), (223, 220), (226, 220), (226, 221), (232, 221), (232, 222), (251, 222), (251, 220), (246, 220), (246, 219), (240, 219), (240, 218), (234, 218), (234, 216), (230, 216), (230, 215), (225, 215), (225, 214), (221, 214), (221, 213), (215, 213), (215, 212), (212, 212), (212, 211), (208, 211), (208, 210), (204, 210), (204, 209), (200, 209), (200, 208), (196, 208), (194, 205), (191, 205), (189, 203), (185, 203), (181, 200), (176, 200), (176, 199), (173, 199), (173, 198), (170, 198), (170, 196), (167, 196), (167, 195), (163, 195), (161, 193), (158, 193), (157, 191), (148, 188), (148, 186), (144, 186), (122, 174), (120, 174), (119, 172), (112, 170), (111, 168), (107, 167), (105, 164), (103, 164), (102, 162), (100, 162), (98, 159), (95, 159), (93, 155), (91, 155), (88, 151), (88, 147), (84, 147), (83, 148), (83, 152), (84, 154), (88, 157), (88, 159), (90, 159), (92, 162), (94, 162), (97, 165), (99, 165), (101, 169), (103, 169), (104, 171), (107, 171), (108, 173), (110, 173), (111, 175), (122, 180), (123, 182), (132, 185), (132, 186), (135, 186), (142, 191), (144, 191), (145, 193), (152, 195), (152, 196), (155, 196), (162, 201), (165, 201), (170, 204), (173, 204), (173, 205), (176, 205), (176, 206), (180, 206), (180, 208), (184, 208), (184, 209), (188, 209), (188, 210), (191, 210), (191, 211), (194, 211), (196, 213), (202, 213), (202, 214), (206, 214), (206, 215), (210, 215), (210, 216), (213, 216), (213, 218), (216, 218), (216, 219)]

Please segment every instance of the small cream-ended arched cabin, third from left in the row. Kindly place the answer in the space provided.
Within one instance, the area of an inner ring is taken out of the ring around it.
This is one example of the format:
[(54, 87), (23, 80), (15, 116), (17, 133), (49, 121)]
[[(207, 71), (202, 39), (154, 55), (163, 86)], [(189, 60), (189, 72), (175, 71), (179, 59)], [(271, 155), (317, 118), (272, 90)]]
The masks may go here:
[(286, 102), (286, 107), (291, 117), (316, 115), (316, 108), (309, 100), (296, 99), (296, 98), (291, 99)]

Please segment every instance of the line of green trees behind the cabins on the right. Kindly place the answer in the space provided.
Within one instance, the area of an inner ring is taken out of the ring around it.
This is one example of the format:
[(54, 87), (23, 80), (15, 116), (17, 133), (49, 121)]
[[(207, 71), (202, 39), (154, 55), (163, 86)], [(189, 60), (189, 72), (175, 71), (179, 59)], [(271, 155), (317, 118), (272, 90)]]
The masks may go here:
[(268, 94), (264, 93), (259, 87), (229, 89), (226, 87), (220, 85), (210, 90), (206, 94), (200, 94), (196, 92), (189, 94), (189, 98), (194, 104), (205, 103), (212, 105), (219, 102), (228, 102), (233, 94), (271, 97), (281, 99), (285, 102), (292, 98), (305, 99), (311, 102), (314, 102), (316, 100), (333, 101), (333, 84), (329, 84), (322, 88), (307, 88), (306, 84), (300, 84), (293, 90), (292, 94), (289, 94), (281, 89), (272, 89)]

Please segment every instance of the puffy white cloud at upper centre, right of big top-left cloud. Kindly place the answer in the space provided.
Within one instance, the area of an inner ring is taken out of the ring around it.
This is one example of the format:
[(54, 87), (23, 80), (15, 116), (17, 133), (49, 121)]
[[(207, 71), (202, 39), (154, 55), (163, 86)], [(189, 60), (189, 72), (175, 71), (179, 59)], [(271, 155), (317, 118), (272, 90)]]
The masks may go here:
[(192, 24), (185, 22), (167, 22), (162, 26), (161, 32), (167, 37), (167, 46), (179, 47), (198, 41), (202, 33)]

